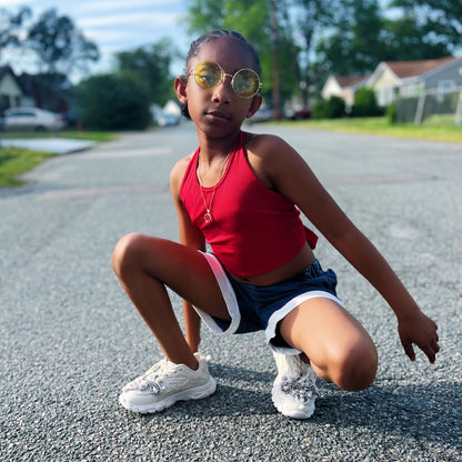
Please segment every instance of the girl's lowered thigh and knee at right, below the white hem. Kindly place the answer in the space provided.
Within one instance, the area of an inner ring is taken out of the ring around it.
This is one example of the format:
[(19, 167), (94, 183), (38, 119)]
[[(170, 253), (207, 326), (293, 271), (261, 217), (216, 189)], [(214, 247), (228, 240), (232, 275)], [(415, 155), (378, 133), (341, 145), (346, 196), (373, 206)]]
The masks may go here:
[(375, 345), (359, 321), (333, 300), (315, 298), (302, 303), (281, 321), (280, 332), (305, 353), (320, 378), (349, 391), (373, 382)]

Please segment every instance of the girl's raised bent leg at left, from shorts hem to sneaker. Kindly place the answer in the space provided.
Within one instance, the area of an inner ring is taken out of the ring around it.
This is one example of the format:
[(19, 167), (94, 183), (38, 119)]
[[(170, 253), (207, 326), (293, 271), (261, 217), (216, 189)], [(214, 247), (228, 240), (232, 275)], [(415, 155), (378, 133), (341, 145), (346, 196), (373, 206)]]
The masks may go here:
[(133, 233), (116, 245), (112, 267), (167, 359), (195, 370), (198, 361), (181, 332), (165, 285), (203, 311), (229, 320), (205, 258), (175, 242)]

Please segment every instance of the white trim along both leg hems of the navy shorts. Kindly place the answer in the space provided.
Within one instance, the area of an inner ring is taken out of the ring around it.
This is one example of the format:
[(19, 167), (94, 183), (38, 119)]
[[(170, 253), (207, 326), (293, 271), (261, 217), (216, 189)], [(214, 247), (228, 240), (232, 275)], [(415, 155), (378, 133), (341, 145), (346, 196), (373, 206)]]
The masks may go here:
[[(241, 312), (239, 310), (238, 299), (235, 298), (234, 289), (232, 288), (231, 282), (229, 281), (228, 275), (225, 271), (223, 270), (223, 267), (221, 265), (218, 258), (211, 253), (205, 253), (205, 252), (201, 252), (201, 253), (205, 257), (205, 260), (210, 264), (210, 268), (212, 269), (213, 274), (217, 278), (217, 282), (220, 287), (224, 302), (227, 303), (228, 312), (231, 317), (231, 322), (230, 322), (229, 328), (225, 331), (223, 331), (223, 329), (215, 322), (215, 320), (210, 314), (205, 313), (204, 311), (200, 310), (197, 307), (194, 307), (194, 309), (198, 312), (198, 314), (202, 318), (202, 321), (205, 323), (205, 325), (213, 333), (218, 335), (235, 333), (241, 322)], [(332, 295), (332, 293), (330, 292), (324, 292), (322, 290), (312, 290), (305, 293), (301, 293), (294, 297), (293, 299), (289, 300), (278, 311), (274, 311), (274, 313), (271, 314), (268, 321), (268, 327), (264, 331), (267, 341), (274, 351), (279, 353), (284, 353), (284, 354), (300, 354), (301, 353), (300, 350), (297, 350), (294, 348), (275, 346), (271, 343), (271, 340), (275, 337), (275, 330), (280, 321), (282, 321), (291, 311), (293, 311), (297, 307), (299, 307), (303, 302), (311, 300), (311, 299), (315, 299), (315, 298), (333, 300), (335, 303), (340, 304), (340, 307), (344, 308), (342, 301), (339, 298), (337, 298), (335, 295)]]

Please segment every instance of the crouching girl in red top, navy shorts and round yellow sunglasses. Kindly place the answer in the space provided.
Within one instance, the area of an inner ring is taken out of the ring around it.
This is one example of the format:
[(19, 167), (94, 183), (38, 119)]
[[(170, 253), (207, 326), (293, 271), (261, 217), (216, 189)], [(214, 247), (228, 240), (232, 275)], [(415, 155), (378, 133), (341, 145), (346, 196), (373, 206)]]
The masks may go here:
[[(272, 399), (285, 415), (312, 414), (313, 372), (349, 391), (372, 383), (374, 343), (337, 298), (335, 273), (321, 269), (318, 238), (300, 211), (388, 301), (408, 356), (415, 359), (416, 344), (435, 361), (435, 323), (302, 158), (277, 137), (241, 131), (261, 104), (260, 87), (253, 48), (223, 30), (192, 43), (185, 73), (175, 79), (199, 138), (197, 151), (171, 172), (181, 243), (133, 233), (112, 255), (165, 355), (122, 389), (120, 403), (130, 411), (157, 412), (214, 392), (207, 361), (195, 353), (200, 321), (192, 307), (217, 333), (265, 331), (279, 369)], [(187, 339), (165, 287), (185, 301)]]

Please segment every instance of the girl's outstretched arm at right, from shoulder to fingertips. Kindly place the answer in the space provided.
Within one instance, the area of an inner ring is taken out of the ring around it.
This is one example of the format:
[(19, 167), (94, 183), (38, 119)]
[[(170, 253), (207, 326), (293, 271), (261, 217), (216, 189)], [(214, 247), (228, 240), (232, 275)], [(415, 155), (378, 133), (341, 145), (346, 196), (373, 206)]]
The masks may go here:
[(249, 160), (253, 159), (257, 171), (295, 203), (390, 304), (408, 356), (415, 359), (415, 343), (434, 362), (439, 351), (436, 324), (422, 313), (382, 254), (343, 213), (304, 160), (275, 137), (258, 137), (249, 143), (249, 151), (252, 148)]

